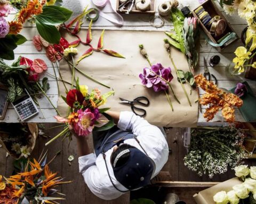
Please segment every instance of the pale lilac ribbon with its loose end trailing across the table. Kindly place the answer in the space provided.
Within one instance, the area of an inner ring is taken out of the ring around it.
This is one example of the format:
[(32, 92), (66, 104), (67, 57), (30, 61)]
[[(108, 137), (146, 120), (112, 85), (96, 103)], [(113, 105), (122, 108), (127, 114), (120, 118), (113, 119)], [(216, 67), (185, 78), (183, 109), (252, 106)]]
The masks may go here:
[(108, 14), (102, 12), (102, 11), (99, 11), (99, 15), (102, 18), (105, 18), (108, 21), (113, 22), (117, 25), (123, 25), (124, 24), (124, 19), (123, 19), (122, 15), (120, 15), (119, 13), (116, 12), (114, 5), (111, 3), (111, 0), (92, 0), (92, 3), (95, 6), (99, 7), (99, 8), (105, 7), (108, 2), (110, 3), (110, 6), (111, 6), (112, 10), (116, 13), (117, 18), (113, 18), (112, 16), (110, 16), (110, 15), (108, 15)]

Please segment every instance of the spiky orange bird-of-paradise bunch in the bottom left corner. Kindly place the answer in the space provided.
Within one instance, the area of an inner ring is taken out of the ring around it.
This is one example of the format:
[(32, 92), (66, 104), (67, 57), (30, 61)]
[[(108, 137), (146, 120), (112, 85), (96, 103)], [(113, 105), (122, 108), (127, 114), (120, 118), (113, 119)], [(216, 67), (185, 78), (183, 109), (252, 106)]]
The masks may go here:
[[(57, 173), (51, 172), (49, 163), (46, 164), (46, 156), (45, 153), (38, 160), (28, 160), (25, 165), (22, 165), (20, 173), (5, 179), (6, 182), (0, 182), (0, 203), (22, 203), (26, 198), (29, 203), (55, 204), (58, 203), (55, 200), (64, 199), (51, 196), (57, 193), (61, 194), (55, 190), (55, 187), (71, 181), (65, 182), (60, 176), (57, 176)], [(2, 200), (4, 202), (1, 202)]]

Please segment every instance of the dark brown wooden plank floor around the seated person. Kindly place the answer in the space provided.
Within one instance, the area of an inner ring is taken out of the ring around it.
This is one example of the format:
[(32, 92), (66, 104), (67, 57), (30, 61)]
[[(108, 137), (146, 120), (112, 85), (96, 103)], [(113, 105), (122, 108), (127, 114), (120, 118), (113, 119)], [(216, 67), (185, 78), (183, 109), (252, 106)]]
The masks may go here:
[[(56, 126), (54, 123), (45, 124), (45, 128), (50, 128), (52, 126)], [(55, 128), (51, 130), (45, 131), (51, 137), (58, 134), (61, 131), (61, 128)], [(225, 181), (234, 177), (234, 171), (229, 170), (227, 173), (214, 176), (213, 179), (209, 179), (207, 176), (199, 177), (194, 172), (191, 172), (183, 163), (183, 158), (186, 155), (186, 148), (183, 147), (183, 134), (186, 132), (185, 128), (169, 128), (166, 129), (167, 141), (169, 143), (169, 147), (172, 149), (172, 153), (169, 155), (169, 160), (163, 168), (163, 171), (170, 172), (172, 181)], [(49, 139), (39, 137), (36, 142), (35, 149), (31, 157), (38, 158), (39, 154), (42, 152), (44, 148), (45, 142)], [(90, 147), (93, 147), (92, 140), (90, 140)], [(76, 203), (76, 204), (128, 204), (130, 203), (130, 193), (126, 193), (121, 198), (112, 201), (105, 201), (94, 196), (91, 191), (87, 188), (84, 183), (83, 177), (78, 172), (78, 156), (76, 151), (76, 141), (71, 141), (68, 147), (68, 141), (65, 140), (61, 142), (61, 139), (51, 143), (48, 147), (49, 150), (49, 160), (56, 154), (56, 152), (61, 151), (61, 154), (58, 155), (55, 160), (51, 163), (50, 167), (52, 171), (58, 172), (62, 177), (65, 177), (65, 180), (73, 181), (70, 184), (62, 185), (61, 192), (65, 193), (66, 200), (61, 201), (62, 204), (67, 203)], [(73, 155), (75, 160), (68, 164), (68, 157)], [(7, 157), (6, 152), (3, 148), (0, 148), (0, 161), (4, 162), (4, 166), (0, 166), (0, 174), (5, 176), (10, 176), (13, 171), (13, 158)], [(256, 165), (255, 160), (250, 159), (246, 160), (246, 163), (249, 165)], [(145, 190), (140, 191), (141, 195), (149, 195), (149, 191), (152, 189), (147, 188)], [(161, 191), (159, 189), (153, 188), (155, 196), (161, 196), (166, 194), (167, 192), (175, 192), (179, 195), (181, 200), (187, 201), (187, 204), (194, 204), (194, 200), (192, 199), (193, 194), (197, 191), (203, 190), (202, 188), (162, 188)], [(146, 193), (143, 193), (146, 191)], [(186, 192), (186, 193), (185, 193)], [(131, 198), (138, 197), (138, 192), (132, 192)]]

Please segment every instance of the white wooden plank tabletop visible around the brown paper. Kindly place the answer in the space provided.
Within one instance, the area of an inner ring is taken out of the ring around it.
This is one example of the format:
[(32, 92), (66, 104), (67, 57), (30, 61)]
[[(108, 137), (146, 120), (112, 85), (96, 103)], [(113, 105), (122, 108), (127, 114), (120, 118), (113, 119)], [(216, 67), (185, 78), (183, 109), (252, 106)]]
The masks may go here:
[[(113, 5), (115, 4), (116, 0), (111, 0), (113, 2)], [(83, 8), (87, 4), (90, 7), (93, 7), (92, 3), (88, 3), (88, 1), (83, 1), (83, 0), (64, 0), (63, 1), (63, 6), (70, 8), (71, 10), (74, 11), (75, 14), (81, 13)], [(165, 0), (156, 0), (156, 11), (157, 7), (160, 3), (165, 2)], [(180, 0), (180, 3), (183, 6), (189, 6), (190, 10), (193, 10), (195, 7), (199, 5), (199, 3), (195, 1), (189, 1), (189, 0)], [(105, 8), (103, 8), (103, 12), (109, 13), (110, 15), (113, 15), (111, 13), (114, 13), (113, 10), (111, 9), (110, 5), (107, 5)], [(222, 12), (224, 15), (225, 12)], [(14, 14), (10, 14), (9, 18), (12, 19)], [(158, 12), (156, 13), (158, 15)], [(172, 22), (169, 19), (165, 19), (165, 24), (161, 28), (155, 28), (150, 25), (148, 22), (149, 20), (149, 15), (145, 14), (123, 14), (124, 17), (124, 25), (123, 27), (117, 27), (113, 23), (109, 22), (106, 19), (99, 18), (99, 20), (95, 23), (93, 23), (93, 29), (115, 29), (115, 30), (159, 30), (159, 31), (170, 31), (172, 27)], [(227, 16), (227, 19), (229, 20), (231, 26), (235, 29), (237, 32), (238, 36), (241, 36), (242, 30), (246, 27), (246, 22), (239, 18), (237, 15), (233, 16)], [(156, 20), (156, 25), (159, 25), (161, 22)], [(86, 28), (88, 26), (89, 22), (84, 21), (84, 24), (82, 25), (83, 28)], [(28, 41), (23, 44), (18, 46), (17, 49), (15, 49), (15, 58), (18, 58), (19, 55), (35, 59), (35, 58), (41, 58), (45, 60), (46, 64), (48, 65), (49, 69), (47, 72), (50, 74), (53, 74), (53, 66), (52, 63), (47, 59), (45, 52), (38, 52), (34, 45), (33, 45), (33, 37), (37, 34), (35, 25), (31, 24), (25, 24), (24, 29), (21, 32), (22, 35), (24, 35)], [(204, 64), (203, 64), (203, 57), (206, 57), (209, 59), (212, 55), (219, 55), (221, 57), (221, 62), (219, 65), (215, 66), (214, 68), (209, 67), (210, 73), (214, 74), (215, 77), (218, 79), (218, 84), (219, 87), (225, 88), (225, 89), (230, 89), (234, 86), (236, 86), (237, 82), (244, 81), (243, 75), (239, 77), (231, 77), (230, 74), (227, 73), (226, 67), (230, 63), (230, 61), (234, 57), (234, 51), (238, 46), (242, 46), (242, 42), (239, 39), (236, 43), (233, 43), (229, 45), (223, 52), (220, 54), (218, 51), (214, 48), (211, 47), (210, 45), (205, 43), (205, 39), (201, 35), (200, 39), (200, 44), (201, 44), (201, 50), (200, 50), (200, 57), (199, 57), (199, 73), (204, 72)], [(10, 63), (10, 62), (9, 62)], [(51, 75), (45, 73), (45, 76), (49, 78), (49, 83), (50, 83), (50, 90), (47, 91), (47, 95), (50, 97), (52, 100), (54, 106), (57, 106), (57, 101), (58, 101), (58, 88), (57, 88), (57, 81), (55, 81), (54, 77), (51, 77)], [(41, 78), (42, 79), (42, 78)], [(255, 90), (256, 88), (256, 81), (251, 81), (248, 80), (251, 88)], [(200, 94), (203, 94), (202, 91), (200, 91)], [(56, 115), (55, 110), (52, 108), (51, 104), (45, 97), (42, 99), (39, 99), (39, 104), (41, 105), (42, 112), (44, 113), (44, 116), (41, 112), (39, 112), (38, 115), (35, 117), (31, 118), (27, 122), (55, 122), (54, 115)], [(203, 112), (205, 107), (203, 108)], [(236, 110), (236, 120), (243, 122), (244, 119), (242, 115), (239, 113), (238, 110)], [(212, 122), (221, 122), (223, 121), (223, 117), (221, 116), (221, 113), (219, 112), (214, 120)], [(9, 105), (6, 117), (4, 119), (4, 122), (19, 122), (18, 115), (15, 113), (12, 105)], [(204, 124), (205, 119), (203, 118), (203, 113), (199, 112), (198, 115), (198, 123), (199, 124)], [(212, 123), (208, 123), (212, 124)]]

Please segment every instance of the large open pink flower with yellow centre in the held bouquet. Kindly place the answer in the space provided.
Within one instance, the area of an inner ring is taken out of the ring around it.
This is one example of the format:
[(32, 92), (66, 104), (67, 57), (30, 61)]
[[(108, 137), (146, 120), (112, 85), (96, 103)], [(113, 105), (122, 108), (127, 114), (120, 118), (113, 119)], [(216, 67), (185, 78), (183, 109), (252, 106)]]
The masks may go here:
[(79, 109), (78, 113), (78, 123), (74, 124), (74, 131), (79, 136), (89, 135), (94, 128), (94, 114), (89, 108), (85, 111)]

